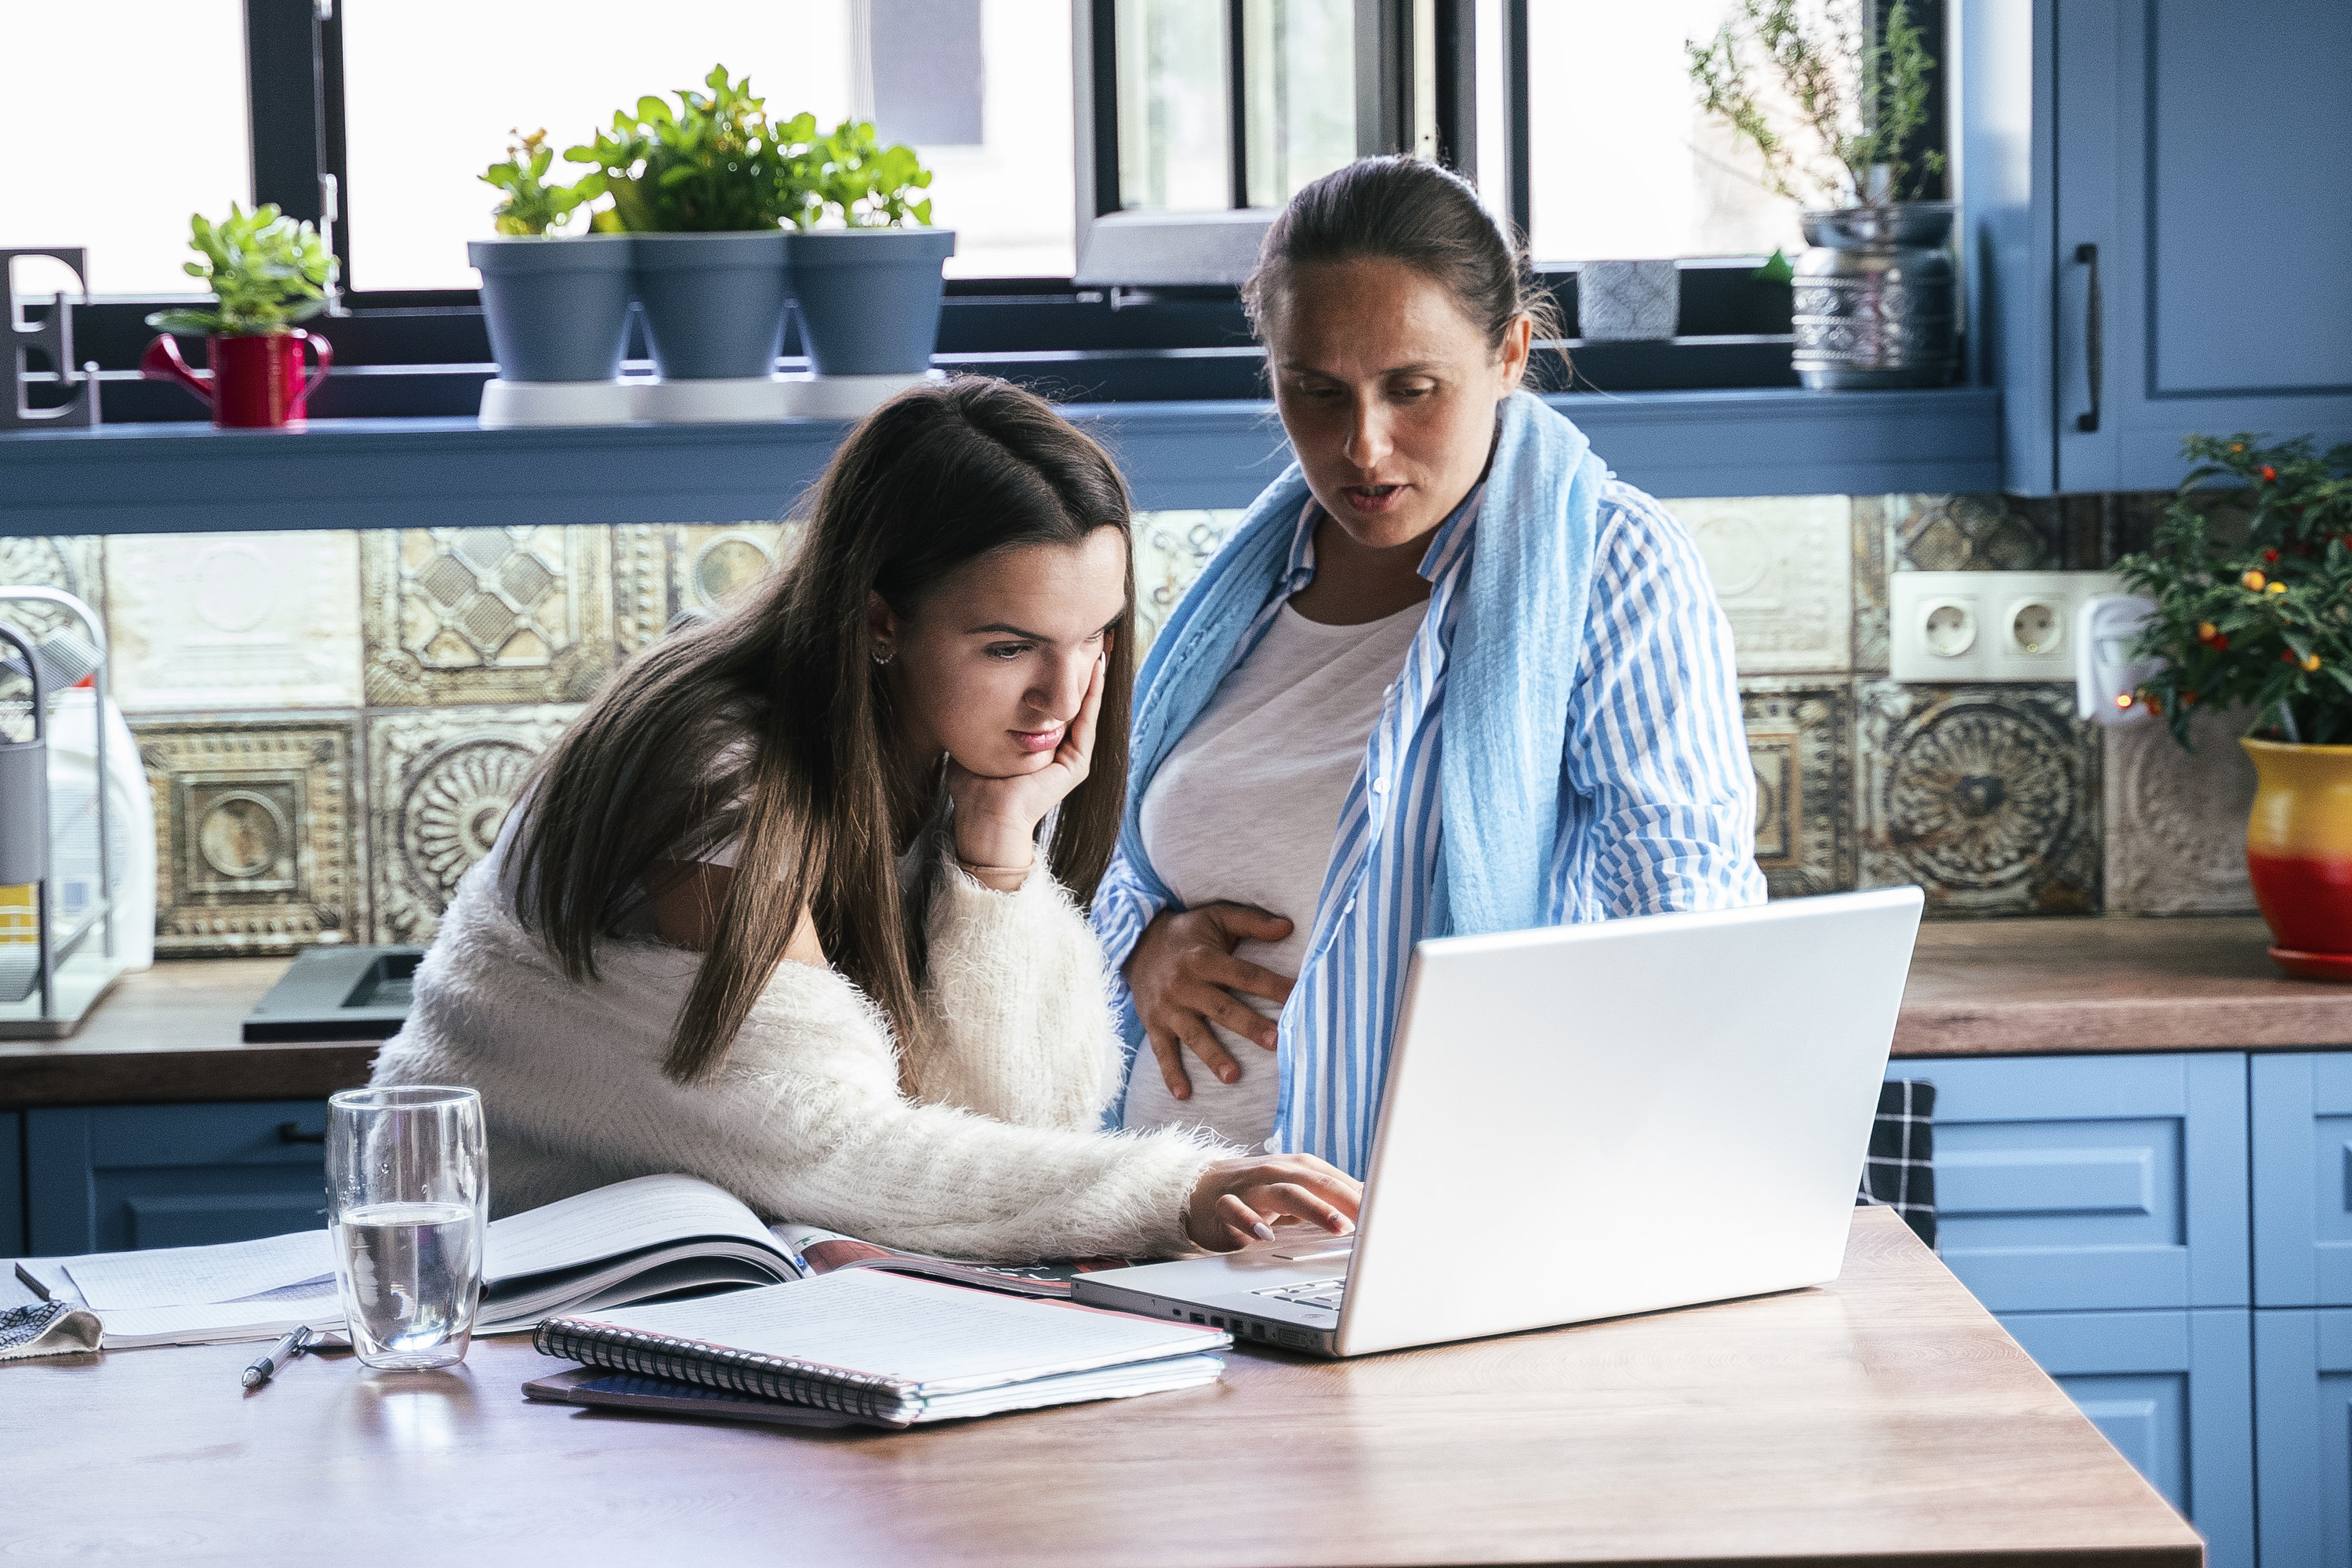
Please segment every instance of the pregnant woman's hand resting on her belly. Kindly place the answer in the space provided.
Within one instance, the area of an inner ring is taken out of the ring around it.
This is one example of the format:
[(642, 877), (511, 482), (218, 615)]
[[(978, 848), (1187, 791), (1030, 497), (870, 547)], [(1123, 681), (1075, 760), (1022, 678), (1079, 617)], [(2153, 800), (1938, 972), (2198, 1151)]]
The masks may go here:
[(1242, 903), (1204, 903), (1197, 910), (1167, 910), (1143, 929), (1136, 950), (1127, 954), (1127, 990), (1136, 997), (1136, 1020), (1152, 1056), (1160, 1058), (1160, 1077), (1178, 1100), (1192, 1098), (1192, 1079), (1185, 1077), (1185, 1046), (1216, 1074), (1218, 1084), (1242, 1077), (1242, 1065), (1225, 1046), (1216, 1044), (1221, 1023), (1242, 1039), (1254, 1039), (1272, 1051), (1277, 1041), (1275, 1020), (1232, 992), (1265, 997), (1275, 1006), (1291, 999), (1291, 978), (1277, 976), (1247, 959), (1232, 957), (1244, 940), (1279, 943), (1291, 933), (1291, 922)]

